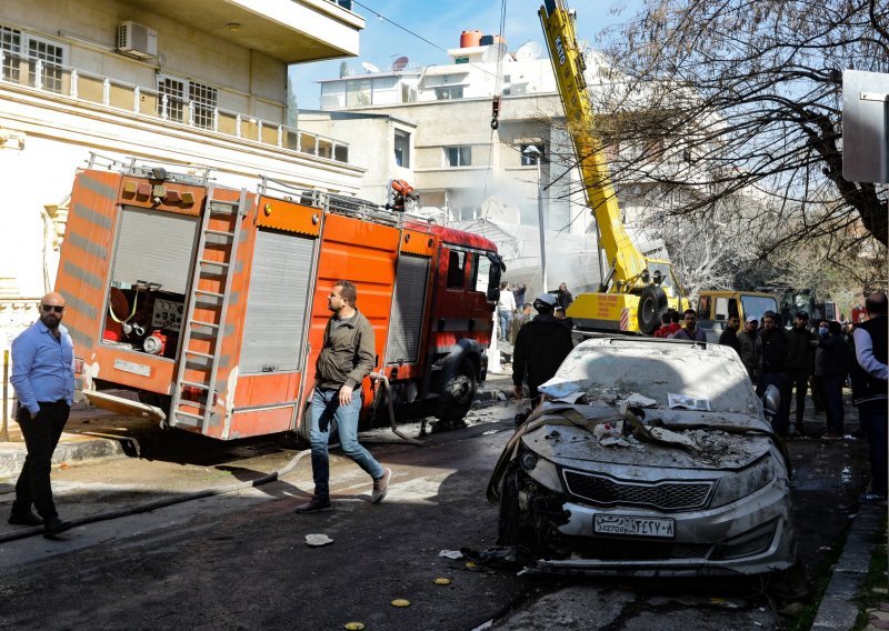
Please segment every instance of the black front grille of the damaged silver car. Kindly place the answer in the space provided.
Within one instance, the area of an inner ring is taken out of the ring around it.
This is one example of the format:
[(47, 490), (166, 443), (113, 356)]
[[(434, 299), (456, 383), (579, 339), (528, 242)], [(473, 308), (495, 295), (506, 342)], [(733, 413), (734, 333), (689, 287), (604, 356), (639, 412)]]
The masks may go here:
[(630, 504), (661, 511), (700, 509), (707, 505), (712, 482), (627, 482), (606, 475), (563, 472), (568, 492), (595, 504)]

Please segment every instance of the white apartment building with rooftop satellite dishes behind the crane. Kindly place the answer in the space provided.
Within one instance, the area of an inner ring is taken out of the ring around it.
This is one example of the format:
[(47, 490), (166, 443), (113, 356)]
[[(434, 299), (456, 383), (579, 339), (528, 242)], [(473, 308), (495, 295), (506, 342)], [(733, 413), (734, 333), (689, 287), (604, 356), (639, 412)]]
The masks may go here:
[[(509, 52), (486, 39), (463, 32), (442, 66), (347, 69), (321, 81), (321, 109), (300, 110), (300, 124), (350, 143), (352, 160), (367, 169), (366, 197), (381, 202), (390, 180), (410, 181), (422, 211), (486, 232), (507, 256), (507, 277), (538, 290), (539, 239), (528, 237), (538, 230), (541, 187), (548, 289), (562, 280), (596, 284), (595, 223), (550, 61), (536, 42)], [(539, 166), (529, 148), (542, 153)]]

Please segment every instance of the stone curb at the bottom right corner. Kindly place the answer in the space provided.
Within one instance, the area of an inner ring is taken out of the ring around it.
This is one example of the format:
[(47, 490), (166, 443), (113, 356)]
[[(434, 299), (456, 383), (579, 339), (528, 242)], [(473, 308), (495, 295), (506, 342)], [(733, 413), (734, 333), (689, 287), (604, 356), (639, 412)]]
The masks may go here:
[(812, 622), (812, 631), (855, 628), (858, 618), (856, 597), (870, 569), (875, 549), (881, 542), (881, 538), (883, 540), (886, 538), (886, 533), (880, 532), (880, 519), (885, 512), (885, 507), (872, 504), (858, 507), (858, 514), (852, 521), (842, 553), (821, 597), (821, 604)]

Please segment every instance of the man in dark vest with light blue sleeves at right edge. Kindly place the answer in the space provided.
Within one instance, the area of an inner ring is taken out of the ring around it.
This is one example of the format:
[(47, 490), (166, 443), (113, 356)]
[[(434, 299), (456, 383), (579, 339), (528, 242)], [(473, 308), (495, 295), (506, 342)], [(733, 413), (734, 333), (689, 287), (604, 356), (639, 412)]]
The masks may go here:
[(887, 478), (887, 299), (881, 291), (865, 301), (868, 320), (856, 324), (852, 363), (852, 402), (858, 408), (861, 429), (870, 449), (870, 490), (865, 502), (886, 504)]

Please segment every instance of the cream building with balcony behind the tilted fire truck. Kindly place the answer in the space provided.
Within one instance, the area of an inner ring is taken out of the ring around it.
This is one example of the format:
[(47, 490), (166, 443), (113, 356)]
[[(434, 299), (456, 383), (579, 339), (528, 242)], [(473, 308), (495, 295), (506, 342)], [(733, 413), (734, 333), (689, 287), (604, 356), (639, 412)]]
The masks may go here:
[(53, 287), (74, 171), (93, 152), (357, 193), (347, 143), (283, 124), (288, 64), (358, 54), (350, 4), (3, 0), (0, 349)]

